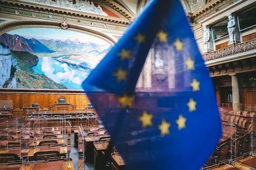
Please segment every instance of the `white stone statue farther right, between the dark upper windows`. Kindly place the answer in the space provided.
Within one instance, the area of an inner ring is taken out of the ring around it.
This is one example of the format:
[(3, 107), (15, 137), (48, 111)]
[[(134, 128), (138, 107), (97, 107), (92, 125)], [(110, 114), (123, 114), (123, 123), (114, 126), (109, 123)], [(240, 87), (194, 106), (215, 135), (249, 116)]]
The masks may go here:
[(238, 20), (233, 14), (228, 15), (227, 31), (229, 35), (228, 45), (240, 43)]

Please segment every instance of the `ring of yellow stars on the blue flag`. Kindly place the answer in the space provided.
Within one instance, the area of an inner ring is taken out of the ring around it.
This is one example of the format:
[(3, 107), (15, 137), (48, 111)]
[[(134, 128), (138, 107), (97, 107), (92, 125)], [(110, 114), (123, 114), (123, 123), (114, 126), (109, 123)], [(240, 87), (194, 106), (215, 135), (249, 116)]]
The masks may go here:
[[(168, 33), (164, 32), (163, 30), (160, 30), (157, 33), (157, 38), (160, 42), (167, 42), (168, 41)], [(145, 43), (146, 42), (146, 36), (137, 33), (136, 36), (134, 36), (134, 40), (136, 41), (137, 44)], [(183, 42), (179, 39), (176, 38), (176, 40), (173, 42), (173, 45), (175, 46), (175, 50), (177, 52), (182, 52), (183, 51)], [(131, 60), (132, 59), (132, 50), (127, 50), (122, 48), (122, 50), (117, 54), (120, 57), (120, 61), (124, 60)], [(187, 57), (184, 61), (184, 64), (186, 65), (187, 70), (191, 71), (195, 69), (195, 61), (191, 59), (190, 57)], [(129, 69), (124, 69), (124, 68), (118, 68), (115, 72), (113, 72), (113, 76), (116, 78), (117, 83), (120, 81), (127, 81), (127, 74), (129, 73)], [(190, 86), (192, 87), (192, 91), (196, 92), (199, 91), (200, 82), (197, 81), (195, 78), (190, 83)], [(121, 104), (121, 108), (132, 108), (133, 107), (133, 100), (134, 96), (128, 96), (123, 94), (120, 98), (118, 98), (118, 102)], [(196, 104), (197, 102), (193, 98), (189, 98), (189, 102), (186, 103), (188, 106), (188, 111), (193, 112), (196, 111)], [(147, 128), (147, 127), (152, 127), (152, 119), (154, 118), (154, 114), (148, 113), (146, 110), (142, 112), (142, 115), (138, 117), (138, 120), (141, 122), (142, 128)], [(179, 114), (179, 117), (175, 120), (175, 123), (177, 124), (178, 130), (182, 130), (186, 128), (186, 117), (183, 117), (182, 114)], [(165, 136), (170, 134), (170, 126), (172, 124), (167, 122), (165, 119), (162, 119), (160, 125), (157, 126), (157, 128), (160, 130), (160, 136)]]

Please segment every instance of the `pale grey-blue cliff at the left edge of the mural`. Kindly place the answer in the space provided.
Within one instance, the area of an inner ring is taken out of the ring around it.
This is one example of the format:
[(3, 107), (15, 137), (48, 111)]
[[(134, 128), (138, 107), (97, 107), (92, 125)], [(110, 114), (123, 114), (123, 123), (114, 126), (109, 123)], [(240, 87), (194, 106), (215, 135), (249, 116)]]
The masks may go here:
[(0, 44), (0, 88), (16, 88), (15, 61), (9, 48)]

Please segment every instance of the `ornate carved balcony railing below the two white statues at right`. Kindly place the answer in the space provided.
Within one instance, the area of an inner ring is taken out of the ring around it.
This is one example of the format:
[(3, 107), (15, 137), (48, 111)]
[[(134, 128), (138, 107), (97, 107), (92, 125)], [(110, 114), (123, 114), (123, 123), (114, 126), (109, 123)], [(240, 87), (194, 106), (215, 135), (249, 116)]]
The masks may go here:
[(255, 48), (256, 48), (256, 39), (253, 39), (253, 40), (239, 43), (236, 45), (228, 46), (226, 48), (217, 50), (215, 52), (205, 54), (203, 55), (203, 59), (205, 61), (216, 60), (216, 59), (231, 56), (234, 54), (247, 52), (249, 50), (254, 50)]

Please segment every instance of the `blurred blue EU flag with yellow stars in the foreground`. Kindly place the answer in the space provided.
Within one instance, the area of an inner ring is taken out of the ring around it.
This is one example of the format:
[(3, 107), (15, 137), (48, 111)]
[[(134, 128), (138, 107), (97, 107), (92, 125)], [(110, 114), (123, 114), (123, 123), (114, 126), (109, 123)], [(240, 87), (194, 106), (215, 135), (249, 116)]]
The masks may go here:
[(127, 169), (199, 169), (221, 137), (211, 78), (179, 0), (151, 1), (82, 86)]

